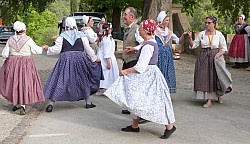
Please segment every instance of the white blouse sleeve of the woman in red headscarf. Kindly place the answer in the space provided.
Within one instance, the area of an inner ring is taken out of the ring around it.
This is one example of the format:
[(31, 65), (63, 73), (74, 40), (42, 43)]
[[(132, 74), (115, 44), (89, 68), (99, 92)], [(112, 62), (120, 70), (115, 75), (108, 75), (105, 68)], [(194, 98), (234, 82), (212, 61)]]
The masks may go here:
[[(156, 43), (155, 39), (151, 39), (149, 41)], [(139, 56), (136, 65), (134, 66), (134, 69), (139, 73), (143, 73), (147, 69), (149, 61), (153, 56), (153, 53), (154, 53), (154, 46), (149, 44), (145, 45), (141, 50), (141, 54)]]

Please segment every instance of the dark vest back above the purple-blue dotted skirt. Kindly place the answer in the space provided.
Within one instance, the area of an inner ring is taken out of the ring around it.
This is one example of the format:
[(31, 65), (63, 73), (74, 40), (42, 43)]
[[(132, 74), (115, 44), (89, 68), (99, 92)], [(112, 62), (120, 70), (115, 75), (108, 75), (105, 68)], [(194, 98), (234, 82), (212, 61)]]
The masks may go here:
[(84, 51), (82, 39), (78, 38), (75, 41), (74, 45), (72, 46), (66, 39), (63, 38), (63, 45), (61, 52), (66, 52), (66, 51)]

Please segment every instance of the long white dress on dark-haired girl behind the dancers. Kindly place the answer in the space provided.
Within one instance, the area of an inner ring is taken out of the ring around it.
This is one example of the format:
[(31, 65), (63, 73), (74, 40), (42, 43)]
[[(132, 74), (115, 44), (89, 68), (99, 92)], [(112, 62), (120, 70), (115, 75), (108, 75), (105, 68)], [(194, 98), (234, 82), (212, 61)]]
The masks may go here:
[[(115, 41), (111, 35), (103, 37), (98, 48), (98, 58), (101, 60), (104, 80), (100, 82), (100, 88), (109, 88), (119, 77), (119, 68), (115, 57)], [(107, 61), (110, 58), (110, 69), (107, 69)]]

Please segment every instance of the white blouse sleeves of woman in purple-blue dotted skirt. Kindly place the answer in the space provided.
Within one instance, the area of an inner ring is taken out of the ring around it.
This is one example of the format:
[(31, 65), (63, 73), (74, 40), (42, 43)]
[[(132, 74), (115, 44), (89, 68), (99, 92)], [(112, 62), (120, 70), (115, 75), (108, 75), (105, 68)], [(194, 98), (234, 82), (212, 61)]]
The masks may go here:
[[(93, 62), (96, 61), (97, 57), (95, 55), (94, 50), (89, 46), (89, 41), (87, 37), (82, 37), (81, 39), (86, 54), (90, 57), (90, 59)], [(59, 54), (62, 50), (62, 45), (63, 45), (63, 37), (59, 36), (55, 41), (55, 45), (48, 48), (47, 55)]]

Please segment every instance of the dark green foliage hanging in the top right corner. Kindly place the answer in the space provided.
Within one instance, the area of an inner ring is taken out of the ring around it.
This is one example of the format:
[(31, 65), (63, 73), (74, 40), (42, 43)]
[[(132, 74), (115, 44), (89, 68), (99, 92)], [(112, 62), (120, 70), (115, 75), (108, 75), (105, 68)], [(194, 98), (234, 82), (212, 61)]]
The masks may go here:
[(244, 13), (246, 18), (250, 12), (249, 0), (211, 0), (213, 6), (217, 8), (220, 15), (229, 17), (231, 22), (235, 22), (239, 14)]

